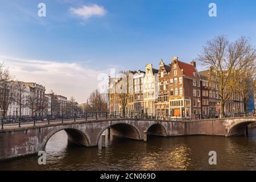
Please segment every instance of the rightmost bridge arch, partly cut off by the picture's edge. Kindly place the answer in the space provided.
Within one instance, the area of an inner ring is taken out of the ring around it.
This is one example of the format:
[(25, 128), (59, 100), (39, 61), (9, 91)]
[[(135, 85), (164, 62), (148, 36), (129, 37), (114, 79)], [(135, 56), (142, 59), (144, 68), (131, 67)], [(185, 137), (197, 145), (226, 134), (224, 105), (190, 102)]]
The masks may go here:
[(240, 121), (229, 127), (228, 136), (245, 134), (246, 127), (255, 121)]

